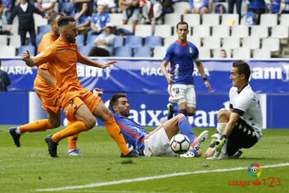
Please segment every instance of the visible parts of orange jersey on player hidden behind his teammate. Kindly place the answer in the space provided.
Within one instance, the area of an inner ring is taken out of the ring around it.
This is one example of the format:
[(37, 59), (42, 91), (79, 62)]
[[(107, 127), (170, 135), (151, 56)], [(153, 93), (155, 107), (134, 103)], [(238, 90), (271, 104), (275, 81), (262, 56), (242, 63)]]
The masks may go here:
[[(52, 44), (54, 41), (56, 41), (56, 38), (53, 38), (50, 32), (43, 35), (39, 45), (38, 45), (38, 54), (42, 52), (46, 47), (48, 47), (50, 44)], [(36, 88), (46, 88), (51, 87), (46, 81), (39, 75), (39, 69), (47, 69), (47, 71), (50, 71), (49, 69), (49, 63), (47, 64), (38, 64), (37, 69), (37, 76), (34, 80), (34, 87)]]

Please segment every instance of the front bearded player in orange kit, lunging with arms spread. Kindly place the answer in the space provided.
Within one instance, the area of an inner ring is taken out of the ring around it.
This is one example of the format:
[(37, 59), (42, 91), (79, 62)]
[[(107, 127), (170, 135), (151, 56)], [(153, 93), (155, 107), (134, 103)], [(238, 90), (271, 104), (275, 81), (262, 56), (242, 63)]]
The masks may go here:
[(60, 34), (57, 41), (54, 41), (52, 45), (45, 48), (36, 57), (30, 57), (28, 50), (22, 54), (22, 60), (27, 66), (32, 67), (50, 62), (50, 72), (57, 89), (59, 104), (64, 110), (66, 118), (71, 122), (71, 125), (66, 127), (66, 129), (59, 131), (57, 134), (46, 136), (45, 141), (50, 155), (57, 157), (57, 145), (61, 139), (92, 129), (96, 124), (94, 118), (96, 116), (104, 122), (108, 134), (119, 145), (121, 157), (138, 157), (126, 146), (121, 130), (117, 126), (110, 110), (101, 101), (101, 98), (84, 89), (77, 78), (77, 62), (105, 69), (117, 61), (99, 64), (82, 56), (78, 52), (77, 44), (75, 43), (78, 31), (73, 17), (61, 17), (57, 24)]

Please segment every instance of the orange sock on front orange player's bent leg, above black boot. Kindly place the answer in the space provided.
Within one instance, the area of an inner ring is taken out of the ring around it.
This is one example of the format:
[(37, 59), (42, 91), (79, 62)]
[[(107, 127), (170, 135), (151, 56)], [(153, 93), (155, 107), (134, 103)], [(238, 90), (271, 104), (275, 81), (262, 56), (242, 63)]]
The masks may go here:
[(61, 141), (61, 139), (67, 138), (68, 136), (74, 136), (82, 131), (88, 131), (88, 129), (83, 122), (77, 121), (71, 124), (71, 126), (66, 127), (62, 131), (59, 131), (56, 134), (54, 134), (51, 139), (52, 141), (58, 143), (59, 141)]

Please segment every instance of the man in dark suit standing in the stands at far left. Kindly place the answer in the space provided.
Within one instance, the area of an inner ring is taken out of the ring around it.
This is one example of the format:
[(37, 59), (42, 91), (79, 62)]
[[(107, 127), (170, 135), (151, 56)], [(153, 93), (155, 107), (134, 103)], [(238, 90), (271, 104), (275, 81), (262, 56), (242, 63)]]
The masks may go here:
[(8, 21), (8, 24), (9, 24), (8, 31), (10, 32), (12, 29), (12, 23), (13, 23), (14, 17), (18, 15), (21, 45), (25, 45), (26, 34), (27, 34), (27, 31), (29, 31), (31, 43), (32, 45), (36, 46), (36, 33), (35, 33), (35, 28), (34, 28), (35, 25), (34, 25), (34, 17), (33, 17), (34, 12), (39, 15), (42, 15), (42, 17), (50, 19), (50, 16), (45, 16), (43, 12), (38, 10), (36, 7), (31, 5), (30, 3), (27, 3), (26, 0), (20, 0), (20, 3), (15, 7), (10, 17), (10, 20)]

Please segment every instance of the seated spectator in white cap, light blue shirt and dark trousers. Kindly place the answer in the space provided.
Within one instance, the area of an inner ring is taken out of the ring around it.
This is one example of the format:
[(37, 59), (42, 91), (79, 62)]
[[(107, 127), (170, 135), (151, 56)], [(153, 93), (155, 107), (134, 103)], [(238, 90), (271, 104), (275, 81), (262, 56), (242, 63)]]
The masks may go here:
[(106, 24), (105, 33), (100, 34), (94, 40), (97, 47), (91, 48), (89, 56), (109, 57), (112, 56), (116, 36), (111, 23)]

